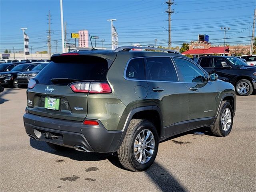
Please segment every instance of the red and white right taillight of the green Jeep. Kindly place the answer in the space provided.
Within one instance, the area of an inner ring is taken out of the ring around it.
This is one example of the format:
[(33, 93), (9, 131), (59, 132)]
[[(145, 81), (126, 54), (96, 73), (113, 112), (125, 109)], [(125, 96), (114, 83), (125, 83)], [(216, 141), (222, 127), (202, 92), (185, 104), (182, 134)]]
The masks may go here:
[(108, 83), (101, 82), (75, 82), (70, 84), (74, 92), (83, 93), (111, 93), (112, 90)]

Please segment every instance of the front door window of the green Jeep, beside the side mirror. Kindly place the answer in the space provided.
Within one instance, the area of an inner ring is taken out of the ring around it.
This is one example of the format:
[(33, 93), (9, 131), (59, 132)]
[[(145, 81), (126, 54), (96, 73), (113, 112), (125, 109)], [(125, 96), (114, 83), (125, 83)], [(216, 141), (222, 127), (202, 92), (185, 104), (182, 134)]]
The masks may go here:
[(184, 82), (200, 83), (206, 81), (204, 72), (192, 62), (176, 57), (174, 57), (174, 61), (183, 76)]

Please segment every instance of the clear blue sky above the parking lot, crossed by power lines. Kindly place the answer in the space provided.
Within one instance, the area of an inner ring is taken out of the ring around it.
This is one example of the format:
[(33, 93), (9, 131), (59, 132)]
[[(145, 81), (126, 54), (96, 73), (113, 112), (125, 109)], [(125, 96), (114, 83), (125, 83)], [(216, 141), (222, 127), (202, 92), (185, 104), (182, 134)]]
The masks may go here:
[[(172, 46), (198, 40), (198, 34), (208, 34), (213, 45), (224, 44), (220, 27), (230, 27), (227, 44), (249, 44), (255, 0), (174, 0), (172, 14)], [(117, 19), (119, 46), (140, 43), (168, 46), (168, 15), (165, 0), (63, 0), (67, 38), (71, 32), (86, 29), (91, 36), (99, 36), (97, 47), (111, 47), (111, 28), (108, 19)], [(47, 48), (47, 14), (52, 15), (52, 52), (61, 49), (59, 0), (0, 0), (0, 52), (23, 50), (20, 28), (27, 27), (33, 52)]]

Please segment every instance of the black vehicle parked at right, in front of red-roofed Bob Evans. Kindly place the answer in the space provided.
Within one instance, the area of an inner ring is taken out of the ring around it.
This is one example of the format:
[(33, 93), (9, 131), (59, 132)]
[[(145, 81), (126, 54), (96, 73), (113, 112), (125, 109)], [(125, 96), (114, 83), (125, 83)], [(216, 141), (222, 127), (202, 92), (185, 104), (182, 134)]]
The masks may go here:
[(256, 66), (236, 57), (203, 56), (198, 64), (208, 73), (218, 74), (220, 80), (233, 84), (238, 95), (248, 96), (256, 89)]

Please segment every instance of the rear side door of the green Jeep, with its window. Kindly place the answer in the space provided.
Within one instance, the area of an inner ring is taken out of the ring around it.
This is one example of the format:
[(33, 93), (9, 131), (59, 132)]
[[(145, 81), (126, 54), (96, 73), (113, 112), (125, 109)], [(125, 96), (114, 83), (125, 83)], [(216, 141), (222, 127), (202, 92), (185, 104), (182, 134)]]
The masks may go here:
[(147, 57), (146, 68), (152, 105), (162, 112), (165, 135), (182, 132), (188, 127), (188, 89), (179, 82), (170, 57)]

